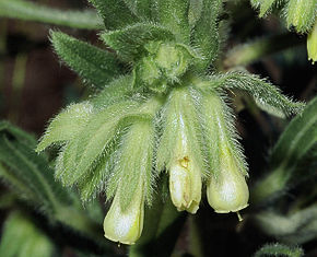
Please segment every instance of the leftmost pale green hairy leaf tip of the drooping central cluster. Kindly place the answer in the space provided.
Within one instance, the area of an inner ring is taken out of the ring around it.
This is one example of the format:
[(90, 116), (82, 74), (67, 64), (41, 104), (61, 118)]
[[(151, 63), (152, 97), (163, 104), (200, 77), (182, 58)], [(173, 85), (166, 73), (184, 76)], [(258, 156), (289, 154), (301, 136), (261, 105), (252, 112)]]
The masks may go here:
[(87, 102), (69, 105), (49, 124), (42, 137), (36, 152), (40, 152), (56, 142), (69, 141), (86, 125), (93, 113), (93, 106)]

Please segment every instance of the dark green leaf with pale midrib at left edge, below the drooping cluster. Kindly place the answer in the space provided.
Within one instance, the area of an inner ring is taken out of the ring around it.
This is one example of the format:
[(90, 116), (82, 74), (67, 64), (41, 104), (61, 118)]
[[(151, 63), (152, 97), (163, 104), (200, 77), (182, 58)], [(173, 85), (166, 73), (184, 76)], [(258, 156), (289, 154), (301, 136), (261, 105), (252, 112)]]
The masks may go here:
[(37, 155), (14, 135), (0, 133), (0, 162), (4, 165), (0, 168), (2, 178), (48, 215), (54, 215), (61, 202), (68, 201), (67, 194), (54, 183), (46, 157)]

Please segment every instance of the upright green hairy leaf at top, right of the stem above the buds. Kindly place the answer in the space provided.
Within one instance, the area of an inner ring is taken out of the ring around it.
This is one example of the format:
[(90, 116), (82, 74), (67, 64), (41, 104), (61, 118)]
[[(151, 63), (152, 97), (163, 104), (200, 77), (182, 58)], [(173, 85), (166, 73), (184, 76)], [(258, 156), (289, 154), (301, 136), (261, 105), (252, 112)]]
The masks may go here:
[(192, 28), (192, 44), (204, 57), (199, 63), (201, 70), (207, 69), (218, 57), (220, 45), (218, 19), (221, 10), (221, 0), (203, 0), (200, 19)]

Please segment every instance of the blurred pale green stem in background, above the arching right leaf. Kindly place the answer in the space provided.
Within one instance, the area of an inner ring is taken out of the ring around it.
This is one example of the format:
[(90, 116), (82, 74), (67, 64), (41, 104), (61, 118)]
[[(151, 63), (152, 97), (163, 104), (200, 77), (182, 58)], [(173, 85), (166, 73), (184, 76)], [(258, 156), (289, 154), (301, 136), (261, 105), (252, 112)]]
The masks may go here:
[(256, 39), (249, 44), (234, 47), (224, 59), (225, 68), (247, 66), (269, 55), (304, 44), (295, 34), (285, 33)]

